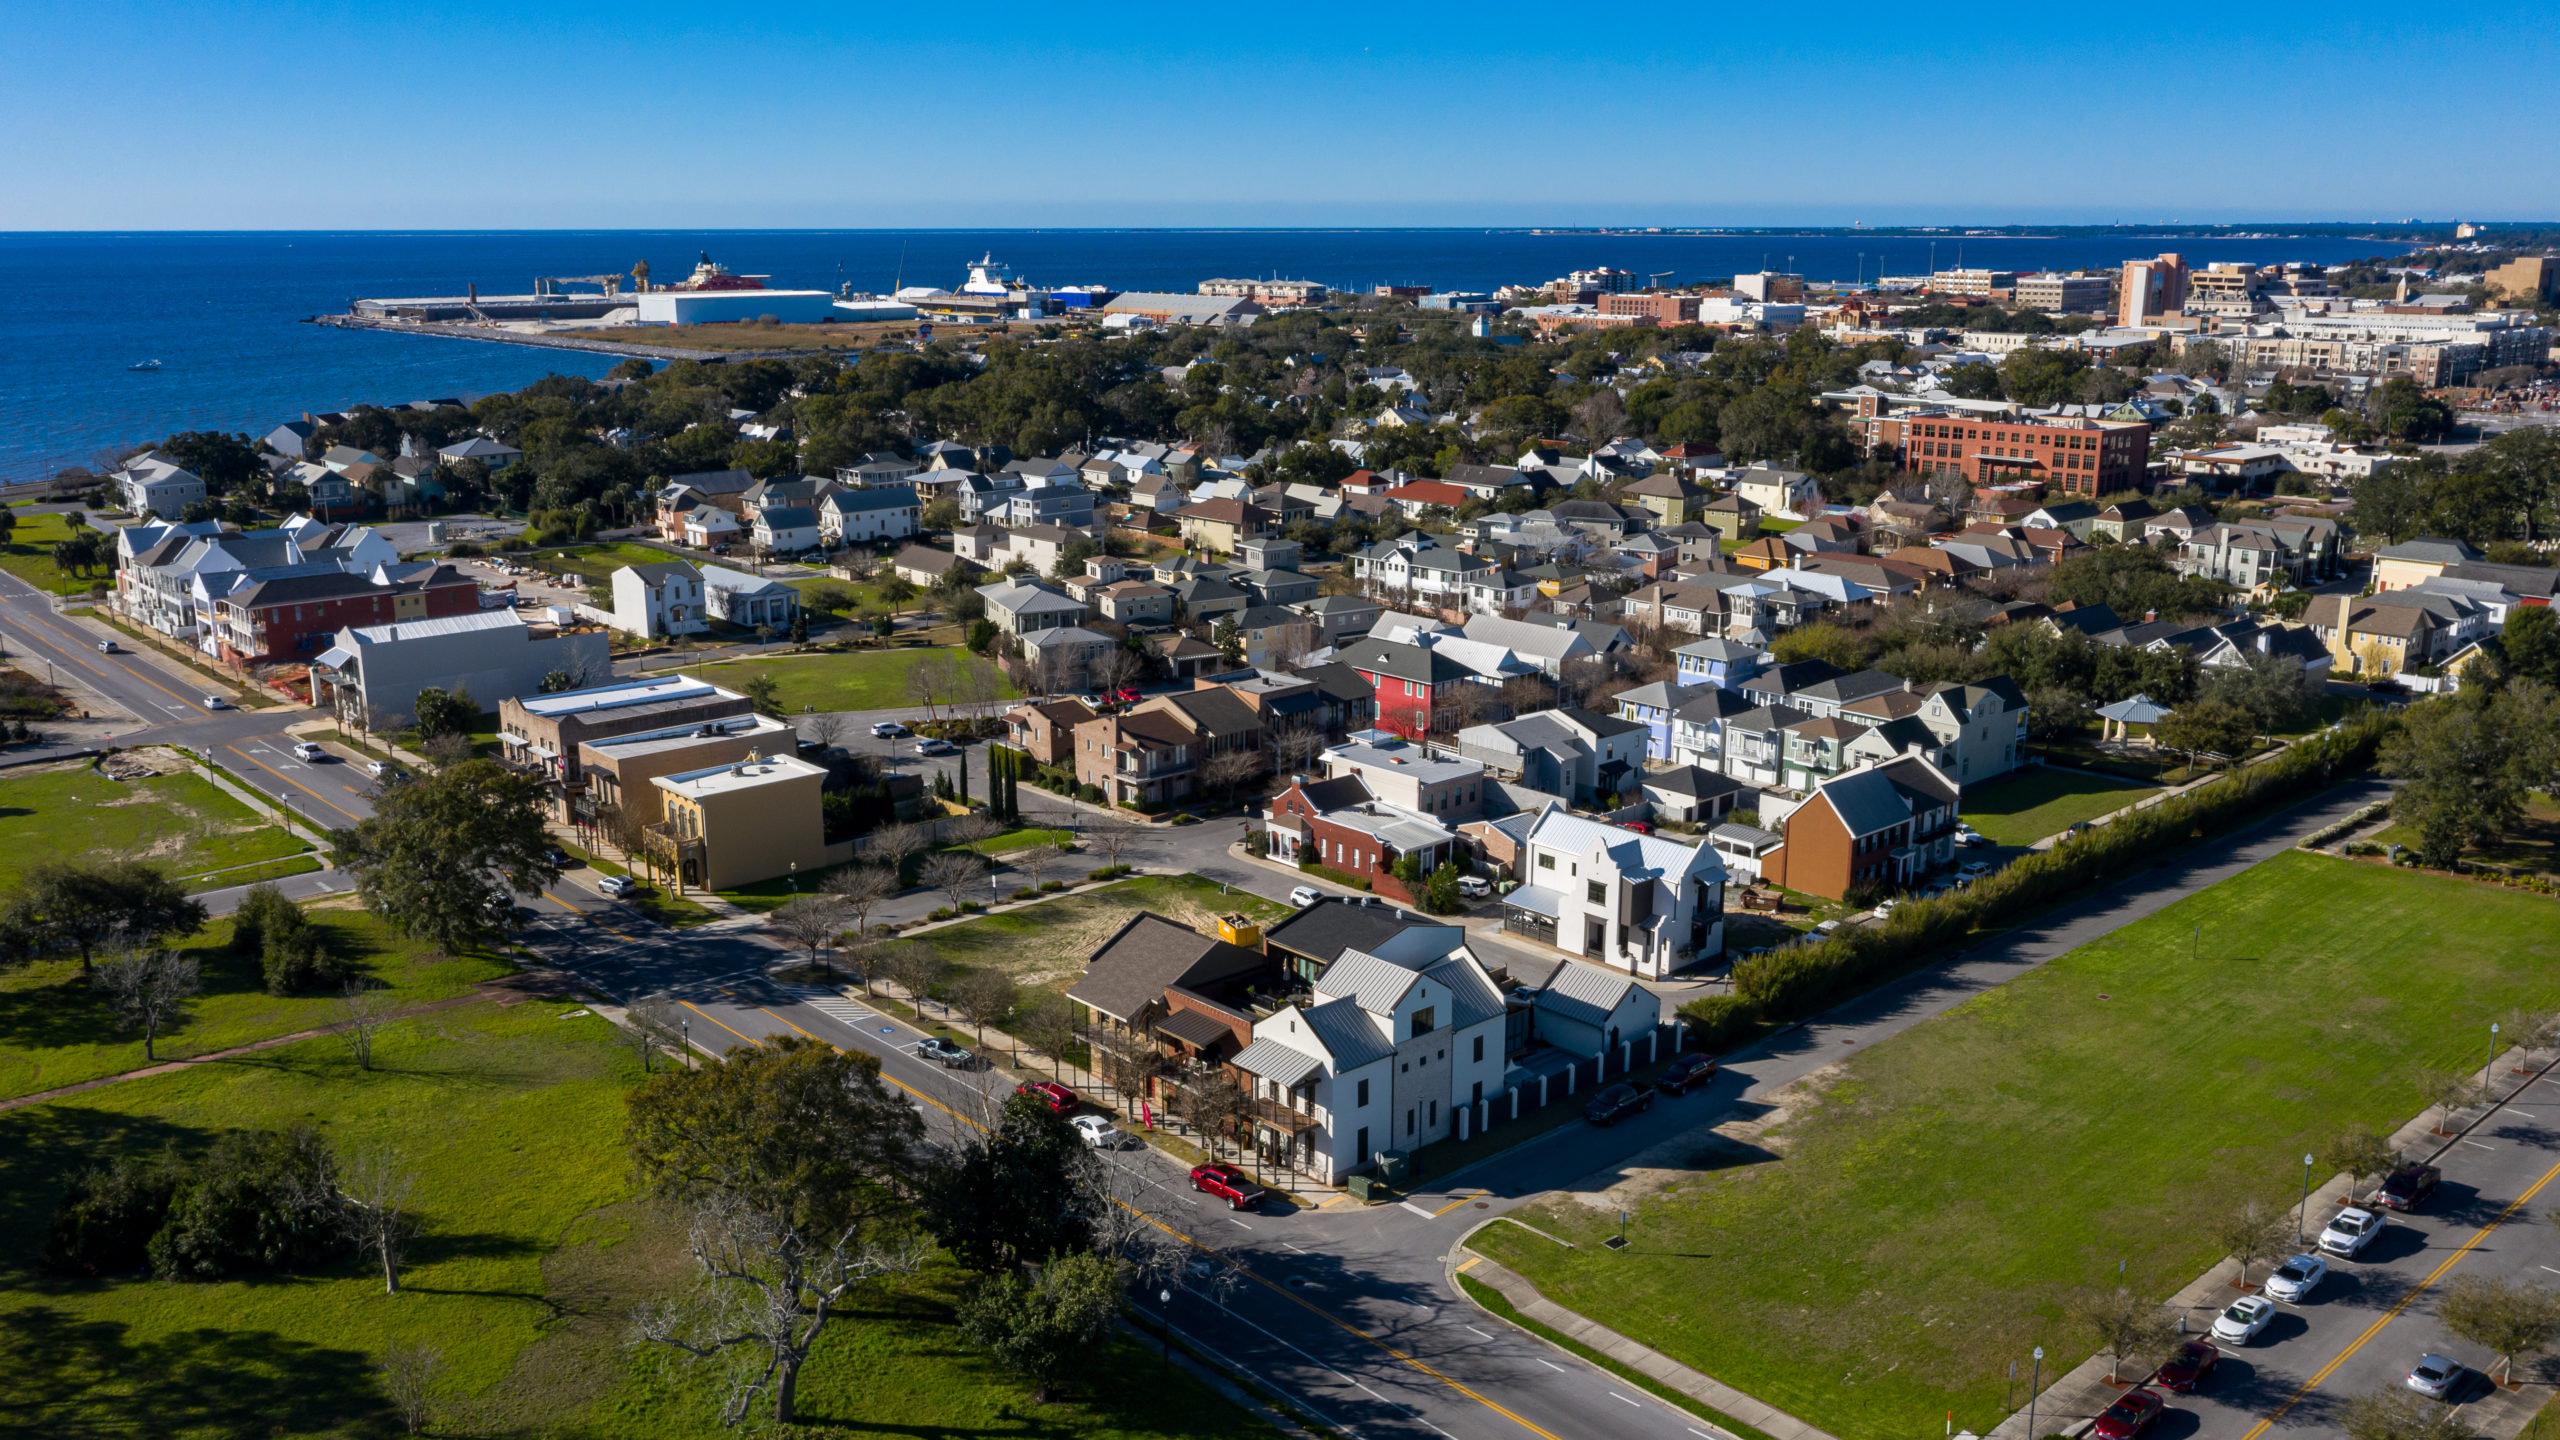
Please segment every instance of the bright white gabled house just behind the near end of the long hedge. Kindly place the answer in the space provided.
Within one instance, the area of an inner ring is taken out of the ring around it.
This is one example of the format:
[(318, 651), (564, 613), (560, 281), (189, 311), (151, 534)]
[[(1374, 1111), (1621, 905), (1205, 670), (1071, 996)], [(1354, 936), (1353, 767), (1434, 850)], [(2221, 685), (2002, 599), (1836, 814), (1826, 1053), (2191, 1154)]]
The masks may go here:
[(1521, 846), (1521, 889), (1503, 928), (1633, 976), (1664, 979), (1725, 948), (1725, 866), (1679, 846), (1549, 805)]

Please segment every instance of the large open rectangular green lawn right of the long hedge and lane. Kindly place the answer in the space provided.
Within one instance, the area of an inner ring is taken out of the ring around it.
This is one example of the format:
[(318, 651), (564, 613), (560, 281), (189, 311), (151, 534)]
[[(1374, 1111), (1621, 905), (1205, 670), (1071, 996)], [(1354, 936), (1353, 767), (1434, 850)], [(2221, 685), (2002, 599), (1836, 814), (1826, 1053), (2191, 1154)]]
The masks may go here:
[[(2199, 930), (2202, 928), (2202, 930)], [(2199, 938), (2202, 935), (2202, 943)], [(1551, 1299), (1833, 1435), (1989, 1432), (2010, 1361), (2092, 1350), (2066, 1297), (2166, 1297), (2207, 1222), (2424, 1109), (2491, 1017), (2560, 1004), (2560, 907), (2284, 853), (1948, 1015), (1843, 1053), (1772, 1135), (1631, 1204), (1477, 1245)]]

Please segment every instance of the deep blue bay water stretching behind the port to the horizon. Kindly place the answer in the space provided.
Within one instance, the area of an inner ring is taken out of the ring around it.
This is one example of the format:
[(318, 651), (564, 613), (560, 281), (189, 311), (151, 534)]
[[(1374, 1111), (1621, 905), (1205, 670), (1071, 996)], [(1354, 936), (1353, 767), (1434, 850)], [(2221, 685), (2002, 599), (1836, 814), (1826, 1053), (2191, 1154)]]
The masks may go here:
[[(1039, 284), (1188, 292), (1211, 277), (1334, 287), (1492, 290), (1620, 266), (1674, 282), (1751, 269), (1810, 279), (2112, 266), (2179, 251), (2207, 261), (2342, 261), (2399, 246), (2353, 238), (1861, 238), (1536, 236), (1523, 231), (502, 231), (502, 233), (5, 233), (0, 479), (90, 464), (172, 430), (266, 433), (305, 410), (515, 389), (604, 374), (612, 356), (305, 325), (361, 295), (522, 295), (538, 274), (684, 277), (694, 256), (776, 287), (955, 287), (993, 251)], [(131, 372), (156, 359), (159, 372)]]

